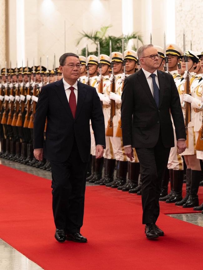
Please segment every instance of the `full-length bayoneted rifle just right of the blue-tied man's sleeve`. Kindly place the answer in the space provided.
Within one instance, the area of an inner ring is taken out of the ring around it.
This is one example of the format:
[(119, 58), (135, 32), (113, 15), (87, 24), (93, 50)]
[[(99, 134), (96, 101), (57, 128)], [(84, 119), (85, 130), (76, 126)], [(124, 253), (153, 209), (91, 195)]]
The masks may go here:
[[(183, 30), (183, 51), (184, 51), (184, 61), (186, 62), (186, 70), (187, 70), (187, 77), (186, 77), (186, 84), (185, 84), (185, 93), (190, 94), (190, 75), (188, 70), (188, 58), (186, 55), (186, 40), (185, 40), (185, 29)], [(188, 140), (188, 123), (191, 120), (191, 104), (186, 102), (183, 103), (182, 107), (185, 107), (185, 126), (186, 126), (186, 147), (189, 147), (189, 140)]]

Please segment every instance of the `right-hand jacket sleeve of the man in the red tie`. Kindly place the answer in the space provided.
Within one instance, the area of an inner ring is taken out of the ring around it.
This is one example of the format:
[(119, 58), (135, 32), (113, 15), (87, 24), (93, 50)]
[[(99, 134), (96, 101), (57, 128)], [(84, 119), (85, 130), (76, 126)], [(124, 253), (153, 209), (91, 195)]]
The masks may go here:
[(104, 115), (102, 111), (101, 101), (95, 88), (93, 89), (93, 103), (90, 119), (92, 123), (92, 129), (94, 131), (96, 145), (101, 144), (106, 147)]

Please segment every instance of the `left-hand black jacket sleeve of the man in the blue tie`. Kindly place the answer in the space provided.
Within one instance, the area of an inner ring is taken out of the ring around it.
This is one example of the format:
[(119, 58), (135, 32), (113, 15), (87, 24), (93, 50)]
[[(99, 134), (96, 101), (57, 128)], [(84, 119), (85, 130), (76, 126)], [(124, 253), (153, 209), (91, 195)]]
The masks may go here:
[(121, 104), (121, 128), (123, 137), (123, 146), (132, 145), (132, 114), (134, 94), (130, 83), (130, 78), (124, 81)]

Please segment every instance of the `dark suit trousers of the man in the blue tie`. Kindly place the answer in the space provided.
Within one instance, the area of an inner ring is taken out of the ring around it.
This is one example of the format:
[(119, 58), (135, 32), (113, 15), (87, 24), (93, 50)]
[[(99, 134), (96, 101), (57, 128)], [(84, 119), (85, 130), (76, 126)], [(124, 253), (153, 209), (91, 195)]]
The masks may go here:
[(156, 223), (159, 216), (161, 181), (171, 148), (163, 146), (161, 135), (153, 148), (136, 148), (142, 171), (142, 224)]

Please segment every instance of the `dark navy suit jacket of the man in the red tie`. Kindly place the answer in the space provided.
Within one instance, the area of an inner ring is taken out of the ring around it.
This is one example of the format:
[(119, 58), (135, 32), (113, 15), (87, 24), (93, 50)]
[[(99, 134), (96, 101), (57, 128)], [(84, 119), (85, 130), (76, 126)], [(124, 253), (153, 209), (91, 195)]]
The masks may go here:
[[(78, 96), (75, 119), (67, 100), (63, 81), (42, 87), (36, 105), (33, 130), (33, 147), (43, 148), (48, 160), (64, 162), (69, 157), (74, 139), (80, 157), (88, 162), (90, 157), (90, 119), (95, 142), (105, 146), (104, 115), (94, 87), (77, 82)], [(47, 117), (46, 140), (43, 139)]]

